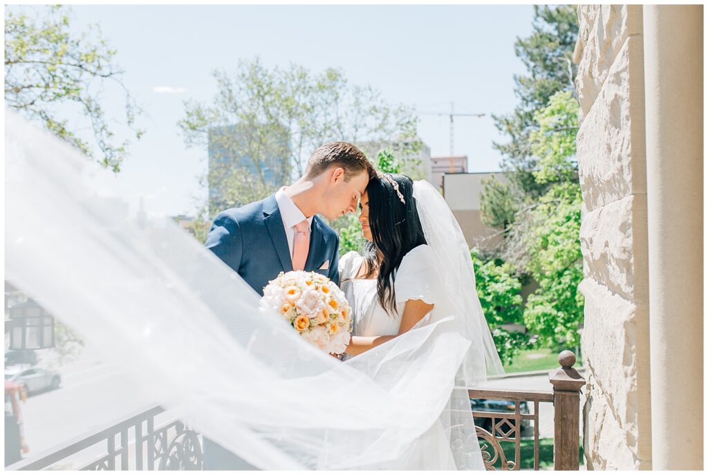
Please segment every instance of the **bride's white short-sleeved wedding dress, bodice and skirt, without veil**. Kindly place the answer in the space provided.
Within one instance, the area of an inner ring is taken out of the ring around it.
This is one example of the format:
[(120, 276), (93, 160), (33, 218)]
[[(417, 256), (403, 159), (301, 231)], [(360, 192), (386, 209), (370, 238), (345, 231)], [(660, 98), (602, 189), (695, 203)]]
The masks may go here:
[[(387, 336), (397, 335), (401, 325), (401, 314), (409, 300), (423, 300), (433, 304), (433, 310), (424, 317), (438, 320), (445, 315), (443, 302), (445, 295), (440, 292), (440, 282), (435, 277), (433, 265), (435, 255), (430, 246), (423, 244), (407, 253), (396, 273), (394, 290), (398, 313), (390, 315), (379, 302), (376, 290), (376, 279), (355, 278), (364, 262), (364, 258), (356, 251), (346, 253), (339, 261), (340, 288), (345, 293), (352, 307), (354, 319), (353, 335), (355, 336)], [(356, 362), (355, 357), (346, 357), (348, 364)], [(464, 396), (463, 396), (464, 399)], [(469, 408), (469, 406), (468, 406)], [(458, 411), (459, 413), (464, 413)], [(452, 452), (450, 437), (464, 432), (465, 437), (457, 437), (457, 461)], [(467, 445), (462, 449), (462, 444)], [(484, 464), (476, 446), (474, 427), (471, 416), (467, 418), (467, 427), (450, 428), (450, 408), (446, 408), (430, 429), (412, 445), (407, 447), (398, 459), (385, 464), (377, 464), (367, 469), (400, 469), (400, 470), (484, 470)], [(464, 457), (462, 453), (464, 452)]]

